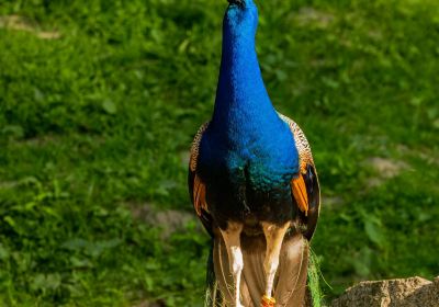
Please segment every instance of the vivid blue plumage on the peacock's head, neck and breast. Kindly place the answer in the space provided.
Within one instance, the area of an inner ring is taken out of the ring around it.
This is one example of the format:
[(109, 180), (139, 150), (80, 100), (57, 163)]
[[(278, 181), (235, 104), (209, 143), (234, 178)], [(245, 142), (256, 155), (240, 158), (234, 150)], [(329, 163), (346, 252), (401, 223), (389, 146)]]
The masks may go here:
[(244, 180), (241, 172), (248, 168), (251, 185), (269, 191), (291, 181), (299, 157), (263, 84), (255, 50), (257, 24), (252, 1), (226, 11), (215, 109), (201, 141), (200, 163), (211, 173), (227, 169), (236, 181)]

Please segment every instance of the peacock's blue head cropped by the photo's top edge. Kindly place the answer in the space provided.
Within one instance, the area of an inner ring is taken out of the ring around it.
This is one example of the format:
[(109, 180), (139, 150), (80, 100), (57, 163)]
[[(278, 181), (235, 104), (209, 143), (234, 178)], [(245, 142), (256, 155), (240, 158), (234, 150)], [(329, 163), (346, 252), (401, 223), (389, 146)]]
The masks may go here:
[(224, 30), (235, 36), (255, 36), (258, 27), (258, 9), (254, 0), (227, 0)]

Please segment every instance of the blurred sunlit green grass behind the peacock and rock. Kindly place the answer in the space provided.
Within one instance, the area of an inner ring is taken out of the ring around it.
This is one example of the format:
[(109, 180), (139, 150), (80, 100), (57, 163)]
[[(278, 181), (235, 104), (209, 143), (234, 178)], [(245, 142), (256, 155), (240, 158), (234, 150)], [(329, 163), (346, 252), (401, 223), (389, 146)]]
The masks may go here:
[[(315, 152), (328, 300), (438, 275), (439, 3), (257, 3), (267, 88)], [(187, 152), (225, 7), (0, 1), (1, 306), (202, 305)]]

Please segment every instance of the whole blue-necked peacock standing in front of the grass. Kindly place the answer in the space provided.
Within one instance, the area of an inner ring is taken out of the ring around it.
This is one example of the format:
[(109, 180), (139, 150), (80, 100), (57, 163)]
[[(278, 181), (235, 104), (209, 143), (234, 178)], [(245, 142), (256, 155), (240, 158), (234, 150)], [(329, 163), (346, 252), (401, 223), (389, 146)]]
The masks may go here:
[(215, 105), (189, 191), (212, 238), (206, 306), (304, 306), (320, 192), (308, 141), (266, 90), (254, 0), (228, 0)]

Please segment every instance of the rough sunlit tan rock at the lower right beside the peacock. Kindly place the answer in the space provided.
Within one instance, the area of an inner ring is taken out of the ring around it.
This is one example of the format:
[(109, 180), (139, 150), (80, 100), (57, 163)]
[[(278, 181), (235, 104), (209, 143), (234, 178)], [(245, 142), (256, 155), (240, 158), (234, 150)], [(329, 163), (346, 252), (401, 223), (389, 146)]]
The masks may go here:
[(439, 307), (439, 276), (361, 282), (335, 299), (331, 307)]

